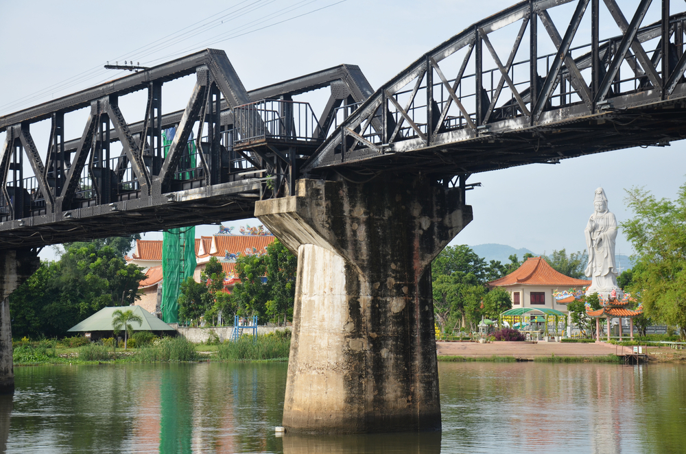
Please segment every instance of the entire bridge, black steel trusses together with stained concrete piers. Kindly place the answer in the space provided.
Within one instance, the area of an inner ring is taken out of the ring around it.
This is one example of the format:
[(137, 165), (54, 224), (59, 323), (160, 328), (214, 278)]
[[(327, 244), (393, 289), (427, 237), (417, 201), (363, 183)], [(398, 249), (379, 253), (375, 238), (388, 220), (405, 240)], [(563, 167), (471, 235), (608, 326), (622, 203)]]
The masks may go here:
[[(679, 8), (523, 1), (373, 93), (346, 65), (248, 92), (207, 50), (0, 117), (3, 297), (47, 244), (257, 215), (300, 261), (284, 425), (440, 427), (428, 265), (471, 220), (469, 176), (685, 136)], [(163, 112), (164, 84), (193, 74)]]

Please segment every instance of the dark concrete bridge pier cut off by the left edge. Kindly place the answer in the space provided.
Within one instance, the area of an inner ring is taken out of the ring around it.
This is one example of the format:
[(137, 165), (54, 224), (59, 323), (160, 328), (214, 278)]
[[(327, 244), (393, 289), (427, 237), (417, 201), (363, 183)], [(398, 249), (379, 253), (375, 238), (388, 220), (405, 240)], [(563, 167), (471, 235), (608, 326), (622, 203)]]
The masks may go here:
[(10, 294), (38, 270), (38, 265), (40, 261), (34, 250), (0, 251), (0, 394), (14, 393)]

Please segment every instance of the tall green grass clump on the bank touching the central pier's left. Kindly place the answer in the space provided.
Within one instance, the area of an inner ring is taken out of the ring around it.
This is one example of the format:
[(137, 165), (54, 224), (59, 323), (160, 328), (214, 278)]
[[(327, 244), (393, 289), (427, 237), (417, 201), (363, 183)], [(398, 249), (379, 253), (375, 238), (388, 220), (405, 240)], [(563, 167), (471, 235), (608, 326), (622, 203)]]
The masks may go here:
[(236, 342), (224, 342), (219, 346), (220, 359), (233, 361), (259, 361), (286, 359), (291, 348), (290, 331), (274, 331), (257, 338), (243, 336)]

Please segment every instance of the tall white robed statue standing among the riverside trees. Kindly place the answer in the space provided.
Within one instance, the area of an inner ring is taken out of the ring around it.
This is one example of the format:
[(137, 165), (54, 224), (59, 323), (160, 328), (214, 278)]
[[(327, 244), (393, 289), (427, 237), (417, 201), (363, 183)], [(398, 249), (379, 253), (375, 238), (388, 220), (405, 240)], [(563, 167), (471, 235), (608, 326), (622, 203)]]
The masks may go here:
[(602, 188), (595, 190), (593, 199), (595, 211), (584, 230), (586, 246), (589, 249), (589, 265), (584, 272), (592, 279), (587, 295), (598, 292), (605, 301), (615, 290), (617, 299), (622, 299), (622, 290), (617, 287), (617, 265), (615, 264), (615, 238), (617, 219), (607, 208), (607, 198)]

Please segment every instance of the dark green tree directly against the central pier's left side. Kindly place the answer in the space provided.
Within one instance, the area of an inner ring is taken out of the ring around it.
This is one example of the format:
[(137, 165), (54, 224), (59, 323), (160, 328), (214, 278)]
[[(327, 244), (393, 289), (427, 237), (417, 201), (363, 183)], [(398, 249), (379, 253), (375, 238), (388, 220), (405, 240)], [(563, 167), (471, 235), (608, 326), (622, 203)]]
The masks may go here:
[(265, 312), (272, 322), (278, 324), (283, 320), (286, 324), (289, 318), (293, 318), (298, 258), (277, 239), (267, 246), (264, 259), (269, 292)]

